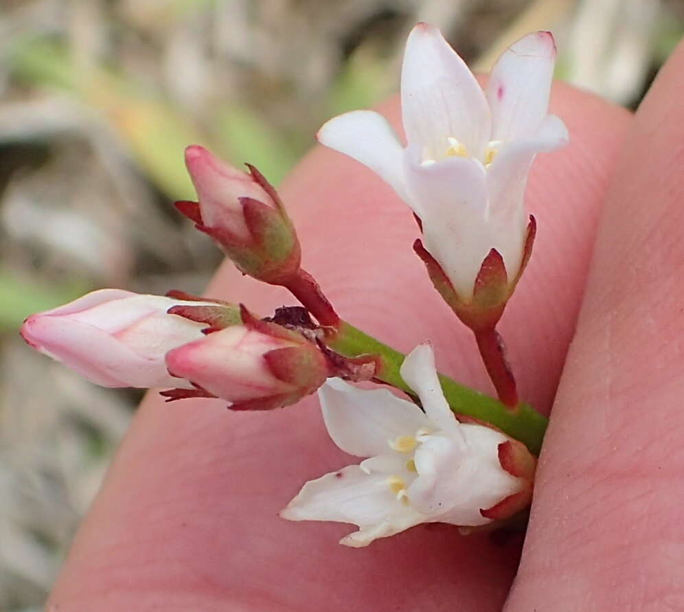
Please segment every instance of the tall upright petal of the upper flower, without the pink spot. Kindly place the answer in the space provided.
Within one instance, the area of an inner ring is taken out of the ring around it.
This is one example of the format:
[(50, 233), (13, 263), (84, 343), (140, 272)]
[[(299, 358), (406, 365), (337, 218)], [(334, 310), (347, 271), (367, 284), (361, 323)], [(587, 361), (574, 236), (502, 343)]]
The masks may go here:
[(490, 135), (485, 96), (466, 63), (433, 25), (416, 25), (406, 43), (401, 75), (404, 130), (409, 145), (442, 159), (448, 137), (481, 159)]

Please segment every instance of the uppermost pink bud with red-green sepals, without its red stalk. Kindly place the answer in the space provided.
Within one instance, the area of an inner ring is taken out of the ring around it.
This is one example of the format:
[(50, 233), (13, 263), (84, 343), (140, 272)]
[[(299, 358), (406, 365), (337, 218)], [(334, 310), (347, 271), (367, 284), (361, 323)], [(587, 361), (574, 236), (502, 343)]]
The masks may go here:
[(262, 174), (220, 161), (207, 149), (185, 150), (198, 202), (176, 202), (181, 213), (209, 234), (238, 269), (277, 284), (299, 269), (297, 234), (280, 197)]

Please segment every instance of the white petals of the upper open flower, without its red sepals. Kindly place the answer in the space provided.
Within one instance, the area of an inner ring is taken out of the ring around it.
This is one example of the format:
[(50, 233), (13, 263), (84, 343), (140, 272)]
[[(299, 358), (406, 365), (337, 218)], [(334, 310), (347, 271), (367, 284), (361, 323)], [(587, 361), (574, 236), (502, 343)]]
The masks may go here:
[(550, 32), (507, 49), (482, 91), (437, 28), (419, 23), (404, 53), (401, 101), (407, 148), (384, 117), (353, 111), (328, 121), (321, 144), (377, 172), (422, 221), (424, 246), (468, 301), (490, 249), (512, 282), (521, 267), (523, 192), (534, 155), (567, 143), (547, 115), (556, 58)]

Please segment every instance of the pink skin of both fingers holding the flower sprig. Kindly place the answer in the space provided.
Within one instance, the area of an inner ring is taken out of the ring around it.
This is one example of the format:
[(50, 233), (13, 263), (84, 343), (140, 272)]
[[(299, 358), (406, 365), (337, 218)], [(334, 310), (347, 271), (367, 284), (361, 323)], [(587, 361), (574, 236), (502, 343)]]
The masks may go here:
[[(551, 110), (571, 145), (532, 171), (538, 238), (501, 323), (521, 396), (540, 409), (556, 395), (580, 305), (582, 315), (509, 611), (684, 606), (684, 107), (672, 103), (683, 89), (684, 47), (633, 120), (554, 89)], [(387, 111), (396, 120), (396, 106)], [(341, 315), (402, 350), (432, 338), (440, 369), (492, 391), (468, 330), (411, 252), (417, 229), (389, 188), (318, 149), (282, 192), (306, 266)], [(229, 265), (210, 293), (262, 312), (291, 301)], [(348, 526), (277, 518), (302, 481), (350, 462), (312, 399), (264, 414), (150, 396), (76, 537), (52, 610), (501, 609), (515, 542), (419, 527), (352, 550), (337, 545)]]

